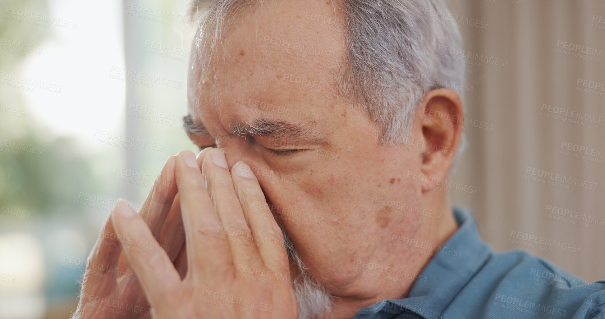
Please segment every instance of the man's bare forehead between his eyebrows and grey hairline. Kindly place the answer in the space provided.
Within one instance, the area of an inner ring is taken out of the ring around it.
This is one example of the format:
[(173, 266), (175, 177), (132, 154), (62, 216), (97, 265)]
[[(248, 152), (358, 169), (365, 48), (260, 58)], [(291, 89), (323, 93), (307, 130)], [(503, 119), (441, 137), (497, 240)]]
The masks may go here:
[(341, 13), (325, 1), (244, 8), (224, 29), (218, 53), (197, 79), (198, 90), (190, 94), (192, 116), (218, 117), (223, 126), (261, 113), (322, 116), (336, 103), (344, 55), (341, 21)]

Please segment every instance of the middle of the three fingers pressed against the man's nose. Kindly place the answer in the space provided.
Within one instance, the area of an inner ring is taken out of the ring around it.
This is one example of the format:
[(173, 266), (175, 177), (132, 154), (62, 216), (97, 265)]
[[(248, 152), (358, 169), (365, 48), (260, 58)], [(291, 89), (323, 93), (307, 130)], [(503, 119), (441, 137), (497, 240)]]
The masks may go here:
[(208, 194), (214, 202), (218, 219), (223, 225), (221, 237), (229, 241), (235, 266), (241, 264), (262, 265), (257, 246), (252, 238), (252, 231), (244, 217), (240, 200), (235, 194), (223, 152), (214, 149), (206, 153), (201, 164), (201, 171), (206, 181)]

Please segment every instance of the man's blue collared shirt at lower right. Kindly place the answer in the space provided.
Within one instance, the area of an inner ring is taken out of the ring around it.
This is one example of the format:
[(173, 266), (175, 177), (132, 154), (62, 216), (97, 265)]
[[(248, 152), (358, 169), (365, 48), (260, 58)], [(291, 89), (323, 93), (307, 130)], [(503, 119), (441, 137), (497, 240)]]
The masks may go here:
[(605, 318), (605, 281), (586, 283), (525, 251), (494, 253), (471, 213), (431, 258), (407, 298), (359, 309), (368, 318)]

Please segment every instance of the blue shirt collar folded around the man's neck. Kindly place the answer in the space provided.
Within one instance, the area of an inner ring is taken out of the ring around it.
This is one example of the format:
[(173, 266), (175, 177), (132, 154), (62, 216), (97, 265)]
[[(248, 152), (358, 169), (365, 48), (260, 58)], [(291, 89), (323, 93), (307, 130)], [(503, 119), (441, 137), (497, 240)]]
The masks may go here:
[(383, 300), (366, 307), (364, 312), (412, 311), (425, 318), (437, 318), (435, 316), (443, 312), (492, 254), (492, 249), (480, 237), (471, 212), (459, 207), (454, 207), (453, 212), (458, 230), (422, 270), (408, 297)]

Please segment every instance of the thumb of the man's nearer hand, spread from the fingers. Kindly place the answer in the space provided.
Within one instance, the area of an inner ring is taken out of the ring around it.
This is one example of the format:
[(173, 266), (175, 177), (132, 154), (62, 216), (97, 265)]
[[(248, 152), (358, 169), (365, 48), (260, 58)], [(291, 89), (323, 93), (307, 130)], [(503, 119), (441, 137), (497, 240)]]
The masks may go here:
[(152, 307), (169, 303), (180, 288), (180, 277), (166, 252), (134, 208), (123, 199), (123, 209), (111, 214), (120, 243)]

